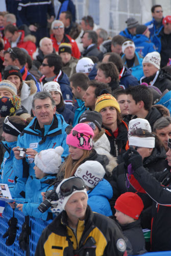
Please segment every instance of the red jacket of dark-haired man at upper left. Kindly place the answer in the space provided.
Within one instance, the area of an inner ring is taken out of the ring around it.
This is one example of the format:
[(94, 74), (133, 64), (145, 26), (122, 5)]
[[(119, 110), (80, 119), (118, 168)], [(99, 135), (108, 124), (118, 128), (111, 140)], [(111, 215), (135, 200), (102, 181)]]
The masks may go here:
[[(33, 53), (36, 51), (36, 45), (32, 41), (34, 40), (34, 37), (32, 35), (27, 35), (25, 37), (25, 32), (23, 30), (18, 30), (18, 32), (21, 32), (21, 36), (19, 42), (17, 43), (17, 47), (26, 49), (29, 55), (32, 57)], [(11, 44), (6, 37), (4, 37), (4, 44), (4, 50), (8, 50), (8, 48), (11, 47)]]

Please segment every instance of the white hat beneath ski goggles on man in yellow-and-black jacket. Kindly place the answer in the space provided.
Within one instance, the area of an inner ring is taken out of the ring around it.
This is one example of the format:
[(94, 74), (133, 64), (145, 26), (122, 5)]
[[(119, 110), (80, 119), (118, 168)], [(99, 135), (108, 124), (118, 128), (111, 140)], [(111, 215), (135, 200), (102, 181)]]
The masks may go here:
[[(58, 185), (57, 188), (56, 188), (56, 193), (57, 193), (58, 196), (59, 196), (59, 194), (60, 194), (60, 187), (61, 187), (62, 183), (64, 183), (66, 180), (73, 179), (73, 178), (76, 178), (76, 177), (70, 177), (70, 178), (68, 178), (68, 179), (63, 179), (63, 180), (59, 183), (59, 185)], [(67, 197), (60, 197), (60, 198), (59, 198), (59, 201), (60, 201), (60, 208), (61, 208), (62, 210), (65, 210), (65, 205), (66, 205), (67, 201), (69, 200), (69, 198), (70, 198), (72, 195), (74, 195), (75, 193), (78, 193), (78, 192), (84, 193), (84, 194), (86, 195), (87, 200), (88, 200), (88, 195), (87, 195), (87, 189), (86, 189), (86, 188), (83, 189), (83, 190), (77, 190), (77, 189), (75, 189), (69, 196), (67, 196)]]

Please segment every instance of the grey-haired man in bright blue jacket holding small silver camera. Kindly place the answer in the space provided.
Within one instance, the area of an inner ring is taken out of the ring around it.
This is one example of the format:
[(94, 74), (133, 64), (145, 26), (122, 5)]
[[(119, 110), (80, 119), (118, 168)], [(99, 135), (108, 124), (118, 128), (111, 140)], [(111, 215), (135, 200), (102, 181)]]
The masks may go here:
[(56, 105), (51, 94), (48, 92), (36, 93), (32, 102), (32, 111), (34, 119), (17, 140), (17, 147), (27, 149), (26, 155), (20, 157), (17, 147), (13, 148), (14, 168), (18, 183), (13, 191), (15, 197), (25, 197), (25, 183), (35, 177), (34, 158), (38, 152), (62, 146), (64, 149), (62, 159), (68, 155), (65, 133), (68, 124), (61, 115), (56, 114)]

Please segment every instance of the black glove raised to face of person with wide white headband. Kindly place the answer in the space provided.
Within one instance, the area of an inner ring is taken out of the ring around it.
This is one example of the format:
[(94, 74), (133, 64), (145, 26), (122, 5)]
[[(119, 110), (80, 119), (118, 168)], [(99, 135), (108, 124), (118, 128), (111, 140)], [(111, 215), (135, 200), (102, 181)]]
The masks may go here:
[(130, 147), (127, 153), (129, 156), (129, 163), (131, 163), (134, 170), (142, 166), (142, 157), (133, 147)]

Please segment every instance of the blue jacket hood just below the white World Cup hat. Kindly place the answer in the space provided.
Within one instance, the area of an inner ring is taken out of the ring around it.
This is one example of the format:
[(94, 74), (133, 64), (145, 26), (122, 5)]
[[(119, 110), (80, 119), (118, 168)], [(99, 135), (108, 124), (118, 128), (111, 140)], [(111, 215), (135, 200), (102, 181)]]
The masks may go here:
[(103, 179), (92, 190), (87, 191), (88, 198), (92, 196), (102, 196), (111, 199), (113, 196), (113, 189), (110, 183)]

